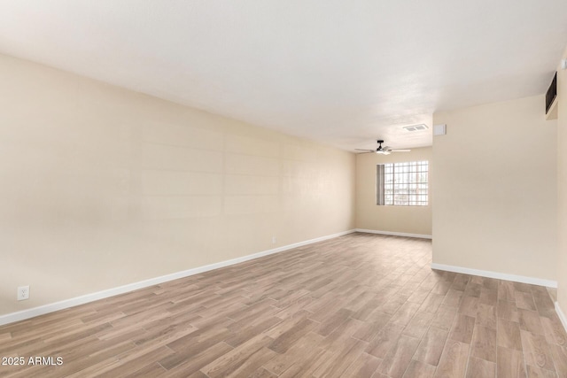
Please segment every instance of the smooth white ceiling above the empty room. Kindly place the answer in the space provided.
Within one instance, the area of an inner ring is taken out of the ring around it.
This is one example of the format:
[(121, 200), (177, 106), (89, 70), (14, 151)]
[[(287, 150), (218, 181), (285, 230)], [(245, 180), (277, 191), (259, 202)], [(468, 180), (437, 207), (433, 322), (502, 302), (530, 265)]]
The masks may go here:
[(0, 0), (0, 53), (346, 150), (544, 93), (566, 44), (565, 0)]

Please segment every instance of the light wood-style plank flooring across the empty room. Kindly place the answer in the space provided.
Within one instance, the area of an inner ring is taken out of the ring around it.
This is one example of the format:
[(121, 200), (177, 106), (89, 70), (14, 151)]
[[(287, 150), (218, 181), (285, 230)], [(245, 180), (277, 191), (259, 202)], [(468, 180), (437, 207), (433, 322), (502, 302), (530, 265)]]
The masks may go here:
[(10, 377), (567, 377), (546, 288), (351, 234), (0, 328)]

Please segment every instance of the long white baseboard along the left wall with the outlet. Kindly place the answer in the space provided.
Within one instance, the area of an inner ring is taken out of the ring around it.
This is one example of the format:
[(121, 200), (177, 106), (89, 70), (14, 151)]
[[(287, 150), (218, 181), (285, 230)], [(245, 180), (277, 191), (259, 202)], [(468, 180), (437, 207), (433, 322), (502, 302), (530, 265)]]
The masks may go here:
[(144, 281), (140, 281), (140, 282), (128, 283), (128, 285), (120, 286), (118, 288), (106, 289), (106, 290), (98, 291), (96, 293), (87, 294), (87, 295), (84, 295), (84, 296), (81, 296), (81, 297), (74, 297), (74, 298), (66, 299), (66, 300), (56, 302), (56, 303), (52, 303), (52, 304), (49, 304), (49, 305), (42, 305), (42, 306), (39, 306), (39, 307), (34, 307), (34, 308), (27, 309), (27, 310), (19, 311), (19, 312), (8, 313), (8, 314), (0, 316), (0, 326), (3, 326), (4, 324), (13, 323), (15, 321), (27, 320), (27, 319), (30, 319), (30, 318), (34, 318), (35, 316), (43, 315), (45, 313), (64, 310), (64, 309), (69, 308), (69, 307), (74, 307), (75, 305), (84, 305), (86, 303), (97, 301), (99, 299), (104, 299), (104, 298), (107, 298), (107, 297), (113, 297), (113, 296), (117, 296), (119, 294), (128, 293), (129, 291), (148, 288), (148, 287), (153, 286), (153, 285), (158, 285), (159, 283), (177, 280), (177, 279), (180, 279), (180, 278), (188, 277), (190, 275), (200, 274), (200, 273), (208, 272), (210, 270), (219, 269), (219, 268), (225, 267), (225, 266), (232, 266), (232, 265), (239, 264), (239, 263), (242, 263), (242, 262), (245, 262), (245, 261), (248, 261), (248, 260), (252, 260), (254, 258), (261, 258), (261, 257), (264, 257), (264, 256), (272, 255), (274, 253), (289, 251), (293, 248), (298, 248), (298, 247), (301, 247), (303, 245), (322, 242), (323, 240), (332, 239), (334, 237), (338, 237), (338, 236), (342, 236), (342, 235), (352, 234), (353, 232), (356, 232), (356, 230), (351, 229), (351, 230), (339, 232), (339, 233), (333, 234), (333, 235), (321, 236), (321, 237), (317, 237), (315, 239), (307, 240), (305, 242), (299, 242), (299, 243), (284, 245), (282, 247), (278, 247), (278, 248), (275, 248), (273, 250), (261, 251), (261, 252), (258, 252), (258, 253), (252, 253), (252, 255), (243, 256), (241, 258), (231, 258), (229, 260), (221, 261), (221, 262), (206, 265), (206, 266), (198, 266), (196, 268), (184, 270), (182, 272), (176, 272), (176, 273), (173, 273), (173, 274), (166, 274), (166, 275), (162, 275), (162, 276), (159, 276), (159, 277), (151, 278), (149, 280), (144, 280)]

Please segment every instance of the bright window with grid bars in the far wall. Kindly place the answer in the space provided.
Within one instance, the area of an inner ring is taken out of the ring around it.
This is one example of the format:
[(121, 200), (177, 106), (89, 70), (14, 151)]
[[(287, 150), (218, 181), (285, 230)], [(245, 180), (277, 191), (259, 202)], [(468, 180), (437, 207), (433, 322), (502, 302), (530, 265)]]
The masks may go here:
[(377, 165), (377, 204), (426, 206), (428, 161)]

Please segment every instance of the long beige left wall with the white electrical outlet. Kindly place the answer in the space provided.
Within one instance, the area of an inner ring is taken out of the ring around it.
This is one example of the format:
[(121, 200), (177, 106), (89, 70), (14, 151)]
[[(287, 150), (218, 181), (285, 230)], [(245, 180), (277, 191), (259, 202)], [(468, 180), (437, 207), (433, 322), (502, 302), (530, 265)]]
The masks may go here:
[(0, 82), (0, 314), (354, 228), (351, 153), (15, 58)]

